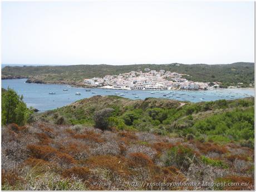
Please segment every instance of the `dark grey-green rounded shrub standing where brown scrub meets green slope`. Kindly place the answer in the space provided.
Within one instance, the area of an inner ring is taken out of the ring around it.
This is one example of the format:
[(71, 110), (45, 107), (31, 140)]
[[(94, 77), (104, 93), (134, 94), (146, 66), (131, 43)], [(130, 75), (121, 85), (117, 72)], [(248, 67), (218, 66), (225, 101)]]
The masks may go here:
[(93, 117), (95, 121), (95, 127), (101, 130), (109, 129), (109, 117), (111, 116), (112, 112), (114, 112), (114, 109), (112, 108), (106, 108), (97, 111)]

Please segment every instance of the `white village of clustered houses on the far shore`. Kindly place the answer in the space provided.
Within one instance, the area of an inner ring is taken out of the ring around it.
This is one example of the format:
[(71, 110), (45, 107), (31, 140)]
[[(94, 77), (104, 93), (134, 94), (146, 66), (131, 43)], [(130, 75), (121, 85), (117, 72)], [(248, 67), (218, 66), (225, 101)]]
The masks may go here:
[[(157, 72), (156, 70), (145, 68), (144, 71), (144, 73), (142, 71), (131, 71), (119, 75), (106, 75), (104, 78), (93, 77), (84, 79), (84, 83), (90, 87), (127, 90), (207, 90), (210, 87), (209, 83), (193, 82), (182, 78), (185, 74), (163, 69)], [(218, 87), (218, 84), (214, 84), (214, 87)]]

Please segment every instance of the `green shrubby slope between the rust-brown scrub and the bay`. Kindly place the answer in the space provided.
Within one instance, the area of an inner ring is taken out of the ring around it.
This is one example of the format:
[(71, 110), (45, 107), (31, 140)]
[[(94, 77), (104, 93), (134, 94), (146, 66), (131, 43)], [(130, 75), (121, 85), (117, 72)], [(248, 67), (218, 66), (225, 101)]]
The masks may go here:
[[(105, 115), (106, 110), (111, 114)], [(101, 129), (110, 126), (219, 143), (233, 141), (254, 148), (254, 98), (180, 103), (169, 99), (95, 96), (40, 116), (50, 122), (56, 117), (64, 117), (72, 125), (96, 125)]]

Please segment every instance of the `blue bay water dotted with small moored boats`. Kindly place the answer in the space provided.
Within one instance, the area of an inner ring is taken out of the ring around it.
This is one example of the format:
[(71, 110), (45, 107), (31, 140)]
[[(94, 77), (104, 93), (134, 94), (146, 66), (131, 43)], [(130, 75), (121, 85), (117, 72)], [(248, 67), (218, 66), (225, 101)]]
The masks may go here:
[[(117, 90), (117, 89), (91, 89), (91, 92), (86, 92), (87, 88), (73, 88), (68, 85), (58, 84), (33, 84), (25, 83), (26, 79), (7, 79), (2, 80), (2, 88), (8, 86), (19, 95), (23, 95), (24, 102), (28, 107), (34, 107), (41, 111), (56, 109), (63, 107), (76, 100), (92, 97), (93, 95), (119, 95), (124, 93), (122, 97), (130, 99), (145, 99), (147, 97), (155, 98), (168, 98), (176, 100), (188, 100), (190, 102), (202, 102), (218, 99), (237, 99), (254, 96), (254, 89), (215, 89), (206, 91), (186, 91), (186, 90)], [(68, 89), (68, 91), (63, 91)], [(107, 92), (106, 92), (107, 91)], [(51, 95), (50, 92), (56, 94)], [(81, 95), (75, 95), (76, 92), (80, 92)], [(92, 92), (96, 92), (93, 94)], [(125, 93), (127, 92), (127, 93)], [(154, 94), (151, 94), (154, 92)], [(119, 93), (119, 94), (115, 94)], [(136, 93), (139, 98), (135, 98)], [(166, 96), (164, 96), (166, 94)], [(178, 96), (178, 97), (177, 97)], [(194, 97), (193, 97), (194, 96)], [(204, 99), (202, 99), (204, 98)]]

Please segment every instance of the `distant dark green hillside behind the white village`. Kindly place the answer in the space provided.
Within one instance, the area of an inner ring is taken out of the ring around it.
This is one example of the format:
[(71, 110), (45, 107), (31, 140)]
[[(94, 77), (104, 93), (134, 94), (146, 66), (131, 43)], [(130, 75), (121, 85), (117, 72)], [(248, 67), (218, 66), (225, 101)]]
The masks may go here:
[(30, 78), (41, 83), (62, 83), (79, 85), (84, 78), (117, 75), (131, 70), (170, 70), (184, 75), (189, 80), (199, 82), (222, 82), (224, 85), (235, 85), (239, 82), (247, 87), (254, 84), (254, 63), (233, 64), (136, 64), (136, 65), (63, 65), (38, 67), (4, 67), (2, 79)]

